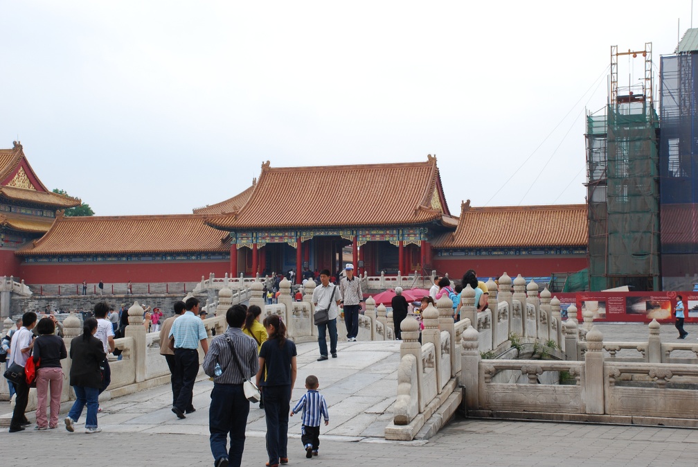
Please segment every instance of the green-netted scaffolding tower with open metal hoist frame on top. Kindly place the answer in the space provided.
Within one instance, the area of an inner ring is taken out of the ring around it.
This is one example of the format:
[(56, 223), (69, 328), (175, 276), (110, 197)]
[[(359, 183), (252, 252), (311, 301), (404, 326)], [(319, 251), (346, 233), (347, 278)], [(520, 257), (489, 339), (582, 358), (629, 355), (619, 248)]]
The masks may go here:
[[(618, 58), (643, 63), (644, 77), (618, 81)], [(587, 116), (589, 287), (659, 290), (658, 117), (652, 44), (611, 47), (609, 103)]]

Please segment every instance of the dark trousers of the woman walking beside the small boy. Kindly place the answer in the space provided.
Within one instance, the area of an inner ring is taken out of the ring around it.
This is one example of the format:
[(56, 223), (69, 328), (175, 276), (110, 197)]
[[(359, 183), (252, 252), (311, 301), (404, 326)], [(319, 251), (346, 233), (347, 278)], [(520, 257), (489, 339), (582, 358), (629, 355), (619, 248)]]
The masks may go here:
[[(335, 332), (336, 335), (336, 332)], [(269, 465), (279, 464), (280, 457), (288, 457), (288, 413), (291, 386), (265, 386), (264, 412), (267, 416), (267, 454)]]

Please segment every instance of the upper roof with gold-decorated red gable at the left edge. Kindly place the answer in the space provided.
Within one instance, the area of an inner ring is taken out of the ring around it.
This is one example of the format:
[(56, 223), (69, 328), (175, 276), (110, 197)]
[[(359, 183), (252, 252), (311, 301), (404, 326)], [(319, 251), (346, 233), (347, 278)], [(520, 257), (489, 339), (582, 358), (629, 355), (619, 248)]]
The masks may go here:
[(15, 141), (12, 149), (0, 149), (0, 198), (29, 202), (42, 207), (66, 208), (80, 206), (82, 201), (48, 190), (36, 176), (24, 156), (22, 144)]

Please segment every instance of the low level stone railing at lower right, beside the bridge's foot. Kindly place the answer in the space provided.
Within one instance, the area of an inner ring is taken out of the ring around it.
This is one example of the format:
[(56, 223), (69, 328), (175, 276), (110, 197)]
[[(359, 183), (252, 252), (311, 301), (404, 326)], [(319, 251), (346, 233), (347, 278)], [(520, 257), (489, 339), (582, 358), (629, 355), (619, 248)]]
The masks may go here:
[[(574, 338), (575, 326), (566, 329)], [(604, 344), (594, 327), (579, 346), (582, 359), (499, 360), (482, 359), (477, 330), (468, 327), (459, 374), (464, 406), (475, 417), (698, 427), (698, 358), (692, 364), (662, 363), (662, 356), (674, 350), (698, 355), (698, 345), (664, 345), (654, 340), (658, 336), (653, 321), (653, 340), (644, 344), (646, 362), (607, 358), (619, 344)]]

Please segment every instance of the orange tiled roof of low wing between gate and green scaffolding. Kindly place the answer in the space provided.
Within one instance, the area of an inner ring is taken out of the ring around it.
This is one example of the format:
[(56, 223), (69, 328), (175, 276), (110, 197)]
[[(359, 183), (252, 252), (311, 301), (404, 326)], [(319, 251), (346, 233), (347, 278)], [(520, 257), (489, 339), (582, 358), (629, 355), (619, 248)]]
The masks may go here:
[(461, 205), (455, 232), (436, 237), (436, 249), (586, 246), (586, 205), (470, 207)]

